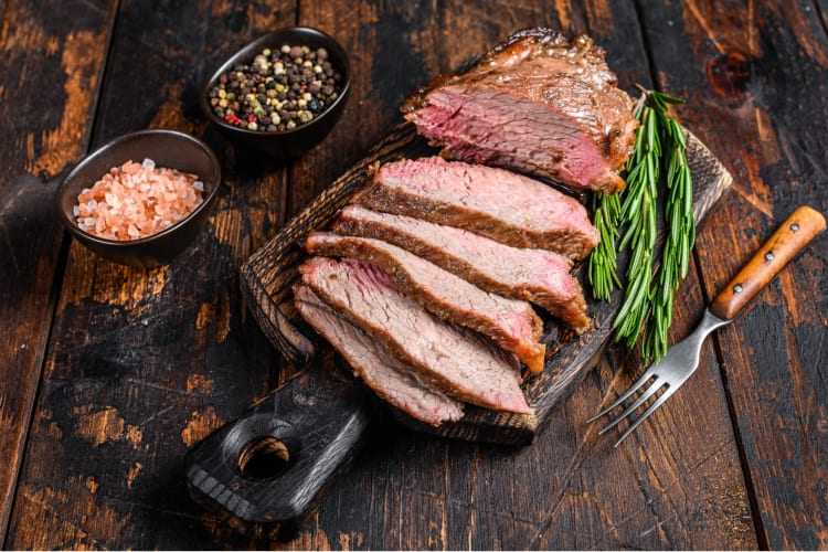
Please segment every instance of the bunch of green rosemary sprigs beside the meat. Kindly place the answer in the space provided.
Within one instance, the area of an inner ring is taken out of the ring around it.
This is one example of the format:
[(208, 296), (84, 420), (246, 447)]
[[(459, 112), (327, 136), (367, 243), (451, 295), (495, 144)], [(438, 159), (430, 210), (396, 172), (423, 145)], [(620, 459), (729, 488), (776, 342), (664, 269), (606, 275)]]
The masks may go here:
[[(658, 360), (667, 351), (667, 330), (672, 320), (673, 293), (687, 276), (696, 241), (692, 178), (687, 164), (687, 139), (668, 114), (668, 104), (682, 99), (645, 91), (635, 109), (639, 121), (635, 151), (625, 167), (627, 188), (613, 195), (595, 194), (595, 225), (602, 242), (590, 256), (588, 278), (593, 295), (609, 300), (622, 287), (617, 276), (616, 238), (626, 226), (619, 250), (630, 248), (627, 287), (615, 319), (616, 341), (628, 347), (641, 339), (645, 360)], [(666, 242), (661, 269), (654, 284), (652, 259), (657, 233), (658, 183), (667, 166)]]

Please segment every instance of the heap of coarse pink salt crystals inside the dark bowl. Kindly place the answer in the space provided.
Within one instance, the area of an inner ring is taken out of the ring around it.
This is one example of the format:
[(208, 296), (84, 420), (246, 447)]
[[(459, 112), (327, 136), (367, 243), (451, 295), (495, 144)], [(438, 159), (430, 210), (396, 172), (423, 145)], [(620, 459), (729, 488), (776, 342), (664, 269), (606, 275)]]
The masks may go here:
[(77, 197), (78, 227), (108, 240), (138, 240), (170, 227), (203, 201), (195, 174), (127, 161)]

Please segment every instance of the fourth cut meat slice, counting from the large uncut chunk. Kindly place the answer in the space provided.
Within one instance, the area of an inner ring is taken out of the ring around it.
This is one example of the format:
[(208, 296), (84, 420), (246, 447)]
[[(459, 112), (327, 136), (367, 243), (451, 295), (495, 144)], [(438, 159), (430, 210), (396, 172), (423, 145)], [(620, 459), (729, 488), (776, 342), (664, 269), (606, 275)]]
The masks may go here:
[(359, 261), (312, 257), (301, 279), (406, 364), (449, 396), (487, 408), (528, 414), (520, 364), (479, 333), (440, 320), (396, 289), (378, 267)]

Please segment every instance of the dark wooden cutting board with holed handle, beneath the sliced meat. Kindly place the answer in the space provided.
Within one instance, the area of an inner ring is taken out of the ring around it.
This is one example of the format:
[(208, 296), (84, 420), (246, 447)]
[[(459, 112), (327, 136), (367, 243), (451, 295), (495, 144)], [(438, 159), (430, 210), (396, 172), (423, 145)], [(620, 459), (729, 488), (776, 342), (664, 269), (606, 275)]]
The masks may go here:
[[(435, 152), (413, 125), (399, 124), (241, 268), (242, 290), (262, 330), (289, 361), (307, 367), (208, 436), (185, 458), (185, 477), (193, 498), (247, 534), (278, 538), (295, 531), (332, 478), (347, 469), (372, 421), (383, 412), (408, 427), (445, 437), (508, 445), (531, 443), (611, 340), (620, 294), (616, 291), (609, 302), (595, 301), (584, 285), (587, 312), (593, 320), (590, 330), (578, 337), (554, 319), (544, 319), (545, 368), (522, 383), (532, 414), (467, 406), (463, 420), (438, 428), (381, 403), (350, 375), (344, 362), (294, 308), (291, 286), (299, 278), (298, 265), (307, 258), (301, 244), (310, 231), (329, 225), (369, 181), (378, 162)], [(689, 132), (688, 162), (699, 224), (731, 185), (732, 178)], [(586, 197), (582, 199), (585, 201)], [(662, 226), (662, 221), (659, 224)], [(660, 232), (658, 242), (662, 241)], [(626, 258), (619, 256), (618, 262), (625, 266)], [(577, 268), (582, 283), (584, 270), (585, 265)], [(540, 309), (539, 315), (543, 316)]]

